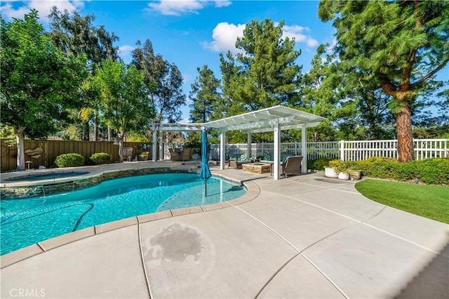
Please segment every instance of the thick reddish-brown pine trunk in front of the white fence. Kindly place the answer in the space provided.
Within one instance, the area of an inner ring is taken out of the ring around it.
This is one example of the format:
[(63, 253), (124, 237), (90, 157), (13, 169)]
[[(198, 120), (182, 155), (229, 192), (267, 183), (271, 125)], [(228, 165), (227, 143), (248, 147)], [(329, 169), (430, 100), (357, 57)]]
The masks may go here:
[(413, 160), (413, 131), (410, 105), (401, 108), (396, 114), (396, 137), (398, 138), (398, 161)]

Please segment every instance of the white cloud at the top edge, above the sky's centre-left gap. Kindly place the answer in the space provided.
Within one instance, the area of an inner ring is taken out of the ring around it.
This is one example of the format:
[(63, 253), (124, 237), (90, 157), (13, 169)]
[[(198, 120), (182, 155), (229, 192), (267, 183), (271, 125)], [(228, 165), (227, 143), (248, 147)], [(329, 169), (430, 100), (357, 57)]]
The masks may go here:
[(154, 11), (159, 11), (163, 15), (180, 15), (182, 13), (196, 13), (206, 4), (199, 0), (160, 0), (149, 3), (148, 6)]

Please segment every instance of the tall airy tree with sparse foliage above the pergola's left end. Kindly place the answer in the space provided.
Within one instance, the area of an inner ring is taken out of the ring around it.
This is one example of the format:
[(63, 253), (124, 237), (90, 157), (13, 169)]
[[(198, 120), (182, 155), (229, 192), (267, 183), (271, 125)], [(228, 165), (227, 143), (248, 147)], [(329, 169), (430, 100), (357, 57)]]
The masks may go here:
[(164, 60), (161, 55), (155, 55), (149, 39), (143, 46), (138, 41), (136, 46), (131, 63), (145, 75), (150, 101), (155, 110), (154, 117), (147, 121), (147, 136), (151, 138), (154, 130), (157, 130), (154, 124), (180, 121), (180, 107), (185, 105), (186, 96), (182, 91), (182, 74), (177, 66)]

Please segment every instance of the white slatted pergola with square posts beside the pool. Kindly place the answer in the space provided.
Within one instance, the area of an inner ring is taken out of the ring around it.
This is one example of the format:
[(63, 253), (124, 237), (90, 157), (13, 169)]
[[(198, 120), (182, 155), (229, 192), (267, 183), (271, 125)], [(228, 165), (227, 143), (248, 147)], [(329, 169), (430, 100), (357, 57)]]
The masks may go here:
[[(307, 128), (318, 126), (326, 118), (302, 112), (297, 109), (274, 106), (260, 109), (234, 117), (227, 117), (205, 124), (158, 124), (159, 131), (201, 131), (204, 128), (213, 128), (220, 132), (220, 169), (225, 169), (225, 138), (227, 131), (241, 131), (248, 134), (248, 153), (251, 150), (251, 134), (270, 132), (274, 134), (274, 161), (280, 161), (281, 131), (301, 129), (302, 131), (302, 173), (307, 173)], [(159, 144), (162, 144), (162, 135), (159, 134)], [(156, 134), (153, 135), (153, 148), (156, 148)], [(162, 157), (162, 147), (159, 147)], [(153, 151), (153, 161), (156, 161), (156, 151)], [(274, 180), (280, 178), (280, 165), (274, 163)]]

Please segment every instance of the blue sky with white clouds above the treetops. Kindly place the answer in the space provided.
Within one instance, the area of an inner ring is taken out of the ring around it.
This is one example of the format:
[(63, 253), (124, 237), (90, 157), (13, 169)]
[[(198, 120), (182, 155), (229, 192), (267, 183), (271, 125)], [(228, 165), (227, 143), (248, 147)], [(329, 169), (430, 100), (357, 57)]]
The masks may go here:
[[(188, 100), (191, 85), (198, 76), (197, 67), (208, 65), (220, 78), (219, 53), (236, 53), (237, 36), (243, 35), (245, 24), (252, 20), (269, 18), (283, 20), (283, 36), (294, 37), (295, 48), (301, 51), (297, 64), (307, 72), (319, 44), (335, 45), (332, 22), (319, 20), (319, 1), (228, 1), (228, 0), (157, 0), (157, 1), (81, 1), (30, 0), (1, 1), (1, 15), (6, 20), (23, 18), (31, 8), (39, 11), (43, 25), (53, 6), (60, 11), (78, 11), (81, 15), (95, 15), (94, 25), (104, 25), (108, 32), (119, 36), (114, 46), (119, 55), (130, 62), (136, 41), (152, 41), (154, 53), (175, 63), (184, 79), (183, 90), (187, 105), (182, 107), (182, 118), (189, 118)], [(447, 80), (449, 67), (442, 70)]]

